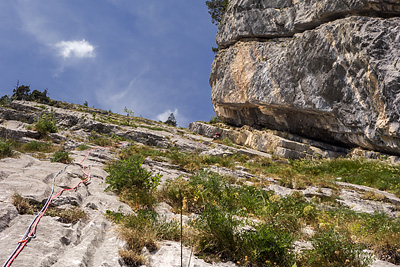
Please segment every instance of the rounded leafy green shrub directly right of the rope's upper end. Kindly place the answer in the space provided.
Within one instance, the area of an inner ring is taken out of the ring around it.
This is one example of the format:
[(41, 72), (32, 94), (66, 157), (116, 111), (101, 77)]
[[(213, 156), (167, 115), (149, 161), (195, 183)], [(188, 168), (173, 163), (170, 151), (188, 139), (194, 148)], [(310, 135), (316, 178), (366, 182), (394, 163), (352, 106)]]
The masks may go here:
[(143, 158), (133, 155), (127, 159), (112, 163), (106, 171), (107, 190), (121, 196), (135, 208), (151, 207), (156, 201), (152, 194), (160, 183), (161, 174), (153, 175), (151, 171), (142, 168)]

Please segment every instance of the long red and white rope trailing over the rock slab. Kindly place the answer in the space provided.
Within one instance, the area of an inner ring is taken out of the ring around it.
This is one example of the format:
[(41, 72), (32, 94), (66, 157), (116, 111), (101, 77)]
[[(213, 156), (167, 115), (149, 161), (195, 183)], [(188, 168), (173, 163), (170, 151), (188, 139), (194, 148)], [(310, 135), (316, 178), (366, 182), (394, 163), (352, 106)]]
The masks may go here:
[[(32, 239), (36, 237), (36, 229), (37, 226), (40, 222), (40, 220), (42, 219), (42, 217), (44, 216), (44, 214), (46, 213), (47, 209), (49, 208), (51, 202), (58, 196), (60, 196), (64, 191), (72, 191), (75, 190), (76, 188), (78, 188), (78, 186), (82, 183), (86, 183), (90, 180), (91, 178), (91, 166), (90, 167), (90, 172), (87, 173), (85, 171), (86, 166), (84, 164), (82, 164), (86, 158), (90, 155), (90, 153), (92, 152), (92, 150), (96, 150), (96, 149), (105, 149), (107, 147), (95, 147), (89, 150), (89, 152), (85, 155), (85, 157), (79, 162), (79, 165), (82, 165), (82, 172), (83, 174), (86, 176), (86, 179), (80, 181), (79, 183), (77, 183), (73, 188), (69, 188), (69, 189), (62, 189), (60, 192), (58, 192), (57, 194), (55, 194), (53, 196), (54, 193), (54, 187), (55, 187), (55, 180), (57, 178), (57, 176), (59, 176), (62, 172), (64, 172), (68, 166), (72, 165), (73, 163), (69, 163), (68, 165), (66, 165), (64, 168), (62, 168), (56, 175), (54, 175), (53, 177), (53, 182), (52, 182), (52, 189), (51, 189), (51, 193), (49, 195), (49, 197), (47, 198), (46, 203), (44, 204), (44, 206), (42, 207), (42, 209), (37, 213), (37, 215), (35, 216), (35, 218), (32, 220), (32, 222), (30, 223), (30, 225), (28, 226), (27, 230), (25, 231), (25, 234), (23, 235), (23, 237), (21, 238), (20, 241), (18, 241), (17, 247), (14, 249), (14, 251), (11, 253), (10, 257), (7, 259), (7, 261), (3, 264), (3, 267), (9, 267), (11, 266), (11, 264), (13, 263), (13, 261), (17, 258), (17, 256), (21, 253), (21, 251), (24, 249), (24, 247), (28, 244), (28, 242)], [(102, 151), (102, 150), (101, 150)], [(97, 155), (97, 159), (100, 157), (100, 153), (98, 153)], [(93, 166), (93, 164), (92, 164)]]

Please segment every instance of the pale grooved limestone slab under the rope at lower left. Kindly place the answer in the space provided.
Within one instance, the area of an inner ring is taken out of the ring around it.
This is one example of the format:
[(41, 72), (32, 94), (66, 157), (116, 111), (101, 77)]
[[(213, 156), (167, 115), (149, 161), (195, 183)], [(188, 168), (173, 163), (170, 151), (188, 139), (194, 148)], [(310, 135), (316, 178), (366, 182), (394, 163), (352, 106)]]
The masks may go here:
[[(75, 152), (78, 162), (87, 152)], [(103, 154), (110, 155), (109, 151)], [(75, 191), (65, 192), (53, 201), (57, 207), (76, 205), (87, 214), (87, 219), (76, 224), (66, 224), (57, 217), (44, 216), (36, 235), (18, 256), (13, 266), (125, 266), (120, 261), (118, 249), (124, 241), (118, 238), (115, 226), (105, 218), (106, 210), (131, 213), (132, 210), (118, 198), (104, 192), (107, 173), (104, 162), (97, 155), (89, 155), (84, 164), (90, 165), (92, 179)], [(31, 156), (0, 160), (0, 259), (9, 257), (21, 239), (33, 215), (18, 215), (11, 204), (12, 195), (44, 203), (51, 191), (53, 176), (65, 167), (61, 163), (40, 161)], [(56, 179), (55, 191), (71, 188), (81, 181), (81, 166), (73, 164)], [(93, 208), (95, 207), (95, 208)]]

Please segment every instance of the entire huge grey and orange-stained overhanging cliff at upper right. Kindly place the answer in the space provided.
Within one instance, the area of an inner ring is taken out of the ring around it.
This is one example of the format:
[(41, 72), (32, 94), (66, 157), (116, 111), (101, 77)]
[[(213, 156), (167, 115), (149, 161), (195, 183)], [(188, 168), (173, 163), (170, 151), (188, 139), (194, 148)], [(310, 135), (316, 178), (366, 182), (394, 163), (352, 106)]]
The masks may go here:
[(233, 125), (400, 154), (400, 2), (232, 0), (210, 77)]

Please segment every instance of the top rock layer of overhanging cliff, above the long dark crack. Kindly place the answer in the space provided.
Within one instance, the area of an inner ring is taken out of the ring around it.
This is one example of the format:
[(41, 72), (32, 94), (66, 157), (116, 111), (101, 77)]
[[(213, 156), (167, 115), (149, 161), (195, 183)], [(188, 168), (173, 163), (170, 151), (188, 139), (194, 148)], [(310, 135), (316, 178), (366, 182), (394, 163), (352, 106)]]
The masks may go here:
[(399, 16), (396, 0), (232, 0), (219, 24), (217, 44), (243, 38), (293, 36), (349, 15)]

